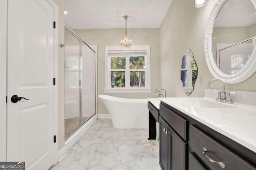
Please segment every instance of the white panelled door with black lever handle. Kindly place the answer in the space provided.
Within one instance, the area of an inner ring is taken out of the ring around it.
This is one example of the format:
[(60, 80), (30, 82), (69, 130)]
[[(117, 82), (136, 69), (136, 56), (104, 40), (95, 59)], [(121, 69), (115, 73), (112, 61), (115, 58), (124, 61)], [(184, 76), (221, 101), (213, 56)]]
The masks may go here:
[(7, 161), (26, 170), (54, 163), (53, 22), (47, 0), (8, 0)]

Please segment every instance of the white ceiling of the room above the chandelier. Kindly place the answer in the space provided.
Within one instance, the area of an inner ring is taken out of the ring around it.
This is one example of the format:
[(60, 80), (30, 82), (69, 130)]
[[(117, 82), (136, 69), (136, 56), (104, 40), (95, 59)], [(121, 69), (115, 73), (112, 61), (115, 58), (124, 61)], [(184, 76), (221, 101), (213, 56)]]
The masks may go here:
[(159, 28), (172, 0), (65, 0), (72, 29)]

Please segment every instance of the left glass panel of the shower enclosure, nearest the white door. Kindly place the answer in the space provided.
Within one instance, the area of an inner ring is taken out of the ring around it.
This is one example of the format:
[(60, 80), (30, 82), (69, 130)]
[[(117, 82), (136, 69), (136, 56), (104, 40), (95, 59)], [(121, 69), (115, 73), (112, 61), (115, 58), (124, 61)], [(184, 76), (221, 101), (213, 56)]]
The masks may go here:
[(65, 29), (65, 138), (80, 126), (80, 40)]

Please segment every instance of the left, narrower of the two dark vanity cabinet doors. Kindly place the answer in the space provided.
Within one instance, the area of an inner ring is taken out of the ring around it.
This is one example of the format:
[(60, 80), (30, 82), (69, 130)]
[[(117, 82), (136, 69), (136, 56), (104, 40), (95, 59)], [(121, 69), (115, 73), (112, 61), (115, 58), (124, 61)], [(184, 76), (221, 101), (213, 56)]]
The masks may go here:
[(170, 170), (170, 135), (166, 132), (168, 124), (159, 117), (159, 164), (162, 170)]

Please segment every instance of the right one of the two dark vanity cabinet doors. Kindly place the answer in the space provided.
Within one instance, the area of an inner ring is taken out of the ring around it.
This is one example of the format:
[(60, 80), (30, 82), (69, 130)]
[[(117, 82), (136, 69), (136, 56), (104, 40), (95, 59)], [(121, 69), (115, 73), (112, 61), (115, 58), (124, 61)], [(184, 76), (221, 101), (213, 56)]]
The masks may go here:
[(170, 133), (171, 170), (187, 170), (188, 144), (170, 127), (168, 133)]

